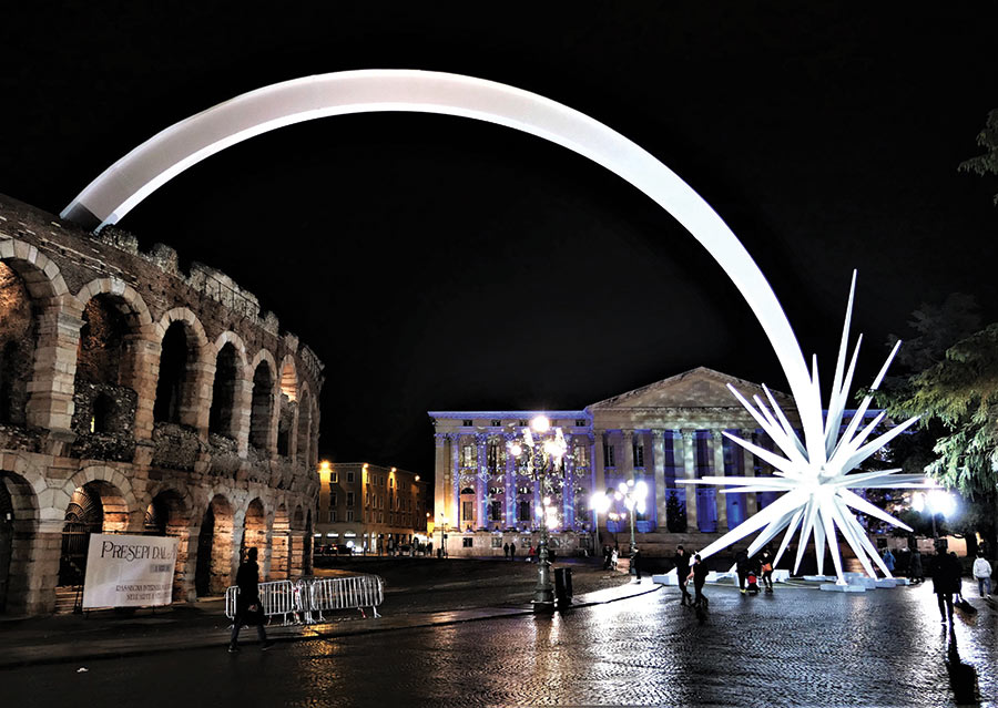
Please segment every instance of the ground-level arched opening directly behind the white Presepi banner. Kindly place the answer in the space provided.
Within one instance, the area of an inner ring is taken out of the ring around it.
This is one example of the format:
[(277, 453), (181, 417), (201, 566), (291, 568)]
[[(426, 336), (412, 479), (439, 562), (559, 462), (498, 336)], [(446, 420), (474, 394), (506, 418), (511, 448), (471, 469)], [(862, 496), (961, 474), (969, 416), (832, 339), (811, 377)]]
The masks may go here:
[[(78, 587), (83, 585), (86, 575), (90, 534), (124, 533), (129, 527), (129, 509), (116, 486), (94, 480), (73, 491), (63, 519), (59, 585)], [(58, 595), (57, 589), (57, 602)]]

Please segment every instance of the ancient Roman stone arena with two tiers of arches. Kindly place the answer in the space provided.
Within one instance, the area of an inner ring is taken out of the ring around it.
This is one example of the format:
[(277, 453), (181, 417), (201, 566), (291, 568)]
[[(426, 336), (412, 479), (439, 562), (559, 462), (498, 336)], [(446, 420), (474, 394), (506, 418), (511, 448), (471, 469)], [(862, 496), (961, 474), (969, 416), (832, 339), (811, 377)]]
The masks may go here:
[(322, 369), (224, 274), (0, 196), (0, 612), (73, 597), (93, 532), (176, 537), (175, 599), (246, 546), (308, 572)]

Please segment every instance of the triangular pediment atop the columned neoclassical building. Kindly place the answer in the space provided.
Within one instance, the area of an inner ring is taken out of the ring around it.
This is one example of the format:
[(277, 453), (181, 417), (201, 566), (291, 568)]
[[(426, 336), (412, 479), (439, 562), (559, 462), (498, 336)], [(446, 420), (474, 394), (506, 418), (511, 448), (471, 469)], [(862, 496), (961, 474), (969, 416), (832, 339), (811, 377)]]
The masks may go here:
[[(691, 409), (691, 408), (741, 408), (737, 399), (729, 390), (733, 386), (750, 401), (753, 396), (766, 400), (763, 388), (706, 367), (650, 383), (589, 406), (587, 410), (634, 410), (634, 409)], [(790, 414), (794, 410), (792, 399), (785, 393), (770, 389), (780, 407)]]

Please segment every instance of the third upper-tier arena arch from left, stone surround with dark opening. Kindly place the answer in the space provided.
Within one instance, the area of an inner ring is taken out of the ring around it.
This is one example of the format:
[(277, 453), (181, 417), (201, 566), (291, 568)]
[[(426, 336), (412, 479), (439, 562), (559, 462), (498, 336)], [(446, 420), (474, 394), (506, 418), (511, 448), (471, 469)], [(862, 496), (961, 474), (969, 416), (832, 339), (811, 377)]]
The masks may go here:
[(205, 432), (211, 409), (206, 391), (215, 363), (201, 320), (190, 309), (175, 307), (155, 325), (155, 340), (160, 345), (160, 362), (154, 421)]

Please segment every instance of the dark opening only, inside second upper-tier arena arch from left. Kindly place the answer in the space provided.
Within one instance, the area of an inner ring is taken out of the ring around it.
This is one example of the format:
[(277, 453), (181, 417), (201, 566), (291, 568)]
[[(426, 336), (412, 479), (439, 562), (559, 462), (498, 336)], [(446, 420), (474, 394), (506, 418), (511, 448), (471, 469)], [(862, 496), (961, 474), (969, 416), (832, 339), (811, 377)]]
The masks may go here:
[[(139, 397), (122, 378), (123, 371), (134, 368), (126, 361), (126, 340), (136, 327), (129, 305), (118, 296), (95, 295), (83, 308), (73, 379), (73, 432), (83, 437), (75, 444), (81, 456), (132, 459)], [(99, 439), (89, 440), (88, 435)], [(112, 442), (118, 445), (109, 445)], [(92, 450), (93, 445), (100, 451)]]

